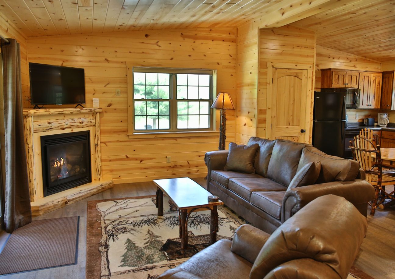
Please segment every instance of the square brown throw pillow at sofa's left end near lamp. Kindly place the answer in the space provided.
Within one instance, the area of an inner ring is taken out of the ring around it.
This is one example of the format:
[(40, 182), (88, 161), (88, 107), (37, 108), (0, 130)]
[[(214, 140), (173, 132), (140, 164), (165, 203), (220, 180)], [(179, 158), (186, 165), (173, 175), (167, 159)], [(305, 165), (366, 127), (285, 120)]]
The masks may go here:
[(229, 154), (224, 170), (255, 173), (253, 164), (258, 147), (258, 144), (248, 146), (244, 144), (237, 145), (234, 142), (229, 143)]

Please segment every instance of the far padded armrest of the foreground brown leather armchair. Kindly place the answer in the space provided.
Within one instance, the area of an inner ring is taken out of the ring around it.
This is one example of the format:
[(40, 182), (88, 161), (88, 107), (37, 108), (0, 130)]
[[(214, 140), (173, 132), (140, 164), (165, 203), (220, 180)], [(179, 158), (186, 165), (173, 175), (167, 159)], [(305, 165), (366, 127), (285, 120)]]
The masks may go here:
[(242, 225), (233, 236), (230, 250), (253, 264), (269, 236), (270, 234), (259, 228), (248, 224)]

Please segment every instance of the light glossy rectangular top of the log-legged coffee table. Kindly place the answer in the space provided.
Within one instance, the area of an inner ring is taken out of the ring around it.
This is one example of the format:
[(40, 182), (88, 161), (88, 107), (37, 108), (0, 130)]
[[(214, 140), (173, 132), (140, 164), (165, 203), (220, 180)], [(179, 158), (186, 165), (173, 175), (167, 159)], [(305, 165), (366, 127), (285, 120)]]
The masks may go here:
[(189, 177), (156, 179), (154, 183), (169, 196), (179, 209), (218, 206), (222, 201), (208, 202), (207, 197), (213, 195)]

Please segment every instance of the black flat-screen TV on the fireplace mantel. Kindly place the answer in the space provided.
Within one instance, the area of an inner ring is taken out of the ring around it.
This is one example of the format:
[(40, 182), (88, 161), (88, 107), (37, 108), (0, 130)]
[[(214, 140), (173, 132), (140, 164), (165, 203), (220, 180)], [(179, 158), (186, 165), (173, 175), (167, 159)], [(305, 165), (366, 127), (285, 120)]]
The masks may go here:
[(84, 69), (29, 63), (32, 105), (85, 104)]

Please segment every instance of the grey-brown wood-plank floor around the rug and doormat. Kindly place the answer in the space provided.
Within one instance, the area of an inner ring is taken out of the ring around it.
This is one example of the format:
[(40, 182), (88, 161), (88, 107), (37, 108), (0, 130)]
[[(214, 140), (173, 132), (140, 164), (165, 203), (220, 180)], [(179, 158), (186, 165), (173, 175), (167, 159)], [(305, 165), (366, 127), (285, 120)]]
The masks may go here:
[[(200, 185), (206, 185), (203, 178), (194, 178)], [(387, 186), (388, 187), (388, 186)], [(92, 197), (80, 200), (53, 212), (35, 217), (50, 219), (67, 216), (80, 216), (78, 263), (72, 266), (48, 268), (14, 275), (4, 275), (1, 278), (10, 279), (83, 279), (86, 264), (86, 235), (87, 235), (87, 201), (107, 198), (138, 197), (154, 195), (156, 186), (152, 182), (117, 184), (113, 188), (98, 193)], [(355, 266), (374, 278), (395, 278), (395, 208), (376, 210), (374, 217), (368, 214), (369, 228), (361, 250), (355, 260)], [(352, 231), (350, 231), (352, 234)], [(0, 234), (0, 247), (6, 239), (6, 232)], [(43, 236), (45, 237), (45, 236)], [(132, 278), (132, 277), (131, 277)]]

